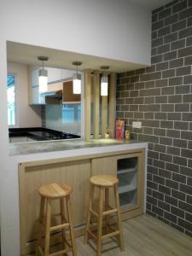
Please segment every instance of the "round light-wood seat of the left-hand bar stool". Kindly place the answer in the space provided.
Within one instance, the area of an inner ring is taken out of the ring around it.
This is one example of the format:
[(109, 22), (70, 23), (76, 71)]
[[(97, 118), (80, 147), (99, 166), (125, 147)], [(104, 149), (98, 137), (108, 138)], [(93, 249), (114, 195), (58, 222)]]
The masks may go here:
[(39, 189), (39, 194), (46, 198), (61, 198), (72, 192), (72, 188), (68, 184), (51, 183), (42, 186)]

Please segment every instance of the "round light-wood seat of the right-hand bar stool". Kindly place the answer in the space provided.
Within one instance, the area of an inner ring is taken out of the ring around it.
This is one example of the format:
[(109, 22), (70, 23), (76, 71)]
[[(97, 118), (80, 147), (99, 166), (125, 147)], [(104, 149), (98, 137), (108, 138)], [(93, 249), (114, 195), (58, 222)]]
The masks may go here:
[(99, 187), (112, 187), (113, 185), (119, 183), (119, 180), (117, 177), (110, 175), (96, 175), (90, 177), (90, 183)]

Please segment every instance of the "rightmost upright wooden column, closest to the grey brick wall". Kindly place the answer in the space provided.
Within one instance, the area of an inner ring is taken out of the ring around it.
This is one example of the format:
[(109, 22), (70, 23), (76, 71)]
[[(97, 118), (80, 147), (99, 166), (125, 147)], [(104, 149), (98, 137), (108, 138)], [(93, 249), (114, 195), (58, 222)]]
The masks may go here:
[(117, 74), (109, 75), (109, 136), (115, 137)]

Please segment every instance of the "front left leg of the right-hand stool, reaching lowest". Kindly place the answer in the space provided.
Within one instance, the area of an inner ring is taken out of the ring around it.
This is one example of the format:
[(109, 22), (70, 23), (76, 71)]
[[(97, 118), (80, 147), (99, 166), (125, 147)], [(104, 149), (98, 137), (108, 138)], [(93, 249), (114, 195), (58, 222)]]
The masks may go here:
[(102, 204), (103, 204), (103, 188), (99, 188), (99, 212), (98, 212), (98, 230), (97, 230), (97, 251), (96, 256), (102, 253)]

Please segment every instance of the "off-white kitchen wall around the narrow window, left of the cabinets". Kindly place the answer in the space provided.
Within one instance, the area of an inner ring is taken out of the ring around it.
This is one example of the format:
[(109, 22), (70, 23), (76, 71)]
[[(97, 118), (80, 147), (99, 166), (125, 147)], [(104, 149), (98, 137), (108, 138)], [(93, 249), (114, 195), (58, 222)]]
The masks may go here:
[(16, 75), (17, 127), (41, 127), (41, 107), (28, 105), (27, 66), (9, 62), (8, 73)]

